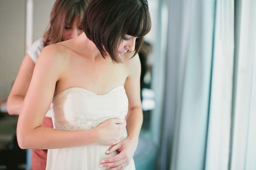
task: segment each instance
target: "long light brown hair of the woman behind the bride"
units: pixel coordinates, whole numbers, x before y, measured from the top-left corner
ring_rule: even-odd
[[[51,11],[50,23],[44,33],[44,46],[63,41],[65,25],[72,25],[76,17],[81,20],[89,0],[56,0]]]

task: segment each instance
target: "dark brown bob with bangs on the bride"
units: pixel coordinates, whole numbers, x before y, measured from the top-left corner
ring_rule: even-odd
[[[143,37],[151,29],[148,2],[147,0],[90,0],[84,12],[83,29],[103,58],[109,54],[112,61],[122,63],[118,56],[118,45],[125,34],[138,37],[135,43],[135,55],[140,50]]]

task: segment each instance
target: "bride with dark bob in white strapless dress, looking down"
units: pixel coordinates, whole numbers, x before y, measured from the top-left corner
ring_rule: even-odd
[[[147,0],[91,0],[82,23],[81,35],[42,51],[18,119],[19,146],[48,149],[47,170],[134,170]],[[55,129],[41,126],[51,102]]]

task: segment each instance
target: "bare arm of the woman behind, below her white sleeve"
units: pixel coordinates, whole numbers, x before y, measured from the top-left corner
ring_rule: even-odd
[[[20,114],[20,110],[32,78],[34,67],[35,62],[33,62],[29,54],[26,54],[23,62],[20,65],[20,70],[17,74],[17,77],[7,100],[6,108],[10,115]]]

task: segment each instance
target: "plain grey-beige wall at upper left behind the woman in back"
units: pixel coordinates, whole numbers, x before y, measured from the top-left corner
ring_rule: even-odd
[[[0,100],[7,99],[26,52],[26,1],[0,0]],[[55,0],[32,2],[34,41],[47,28]]]

